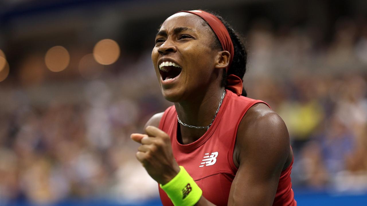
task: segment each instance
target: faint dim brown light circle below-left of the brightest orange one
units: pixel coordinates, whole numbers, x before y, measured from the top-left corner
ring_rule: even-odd
[[[80,59],[79,72],[83,78],[94,80],[98,78],[103,71],[103,65],[98,64],[93,54],[87,54]]]

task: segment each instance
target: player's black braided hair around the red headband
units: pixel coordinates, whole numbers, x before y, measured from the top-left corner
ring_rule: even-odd
[[[224,24],[224,26],[228,30],[229,36],[230,36],[230,38],[232,40],[232,43],[233,43],[233,47],[235,49],[232,64],[231,64],[229,70],[227,72],[226,72],[226,70],[223,70],[222,87],[225,87],[227,85],[227,76],[230,75],[230,74],[234,74],[237,77],[240,77],[241,79],[243,79],[243,76],[246,73],[246,62],[247,62],[246,48],[245,48],[239,34],[237,34],[237,32],[232,28],[232,26],[229,25],[228,22],[226,22],[221,16],[219,16],[217,14],[214,14],[213,12],[210,12],[210,11],[206,11],[206,12],[217,16],[218,19],[222,21],[222,23]],[[203,20],[203,22],[205,23],[205,26],[210,27],[206,21]],[[211,27],[210,27],[210,29],[211,29]],[[219,41],[218,37],[215,35],[213,30],[212,30],[212,32],[213,32],[213,36],[216,39],[216,41],[214,41],[214,45],[212,45],[212,48],[219,48],[219,49],[223,50],[222,44]],[[247,92],[244,88],[242,89],[242,94],[241,95],[242,96],[247,96]]]

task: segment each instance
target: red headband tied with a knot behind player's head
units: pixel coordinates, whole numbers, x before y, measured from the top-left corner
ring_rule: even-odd
[[[222,48],[224,51],[228,51],[230,54],[230,60],[229,65],[226,68],[226,71],[228,71],[232,60],[233,55],[235,53],[235,49],[233,48],[232,40],[229,36],[228,30],[222,23],[220,19],[218,19],[217,16],[214,16],[206,11],[202,10],[192,10],[192,11],[179,11],[179,12],[187,12],[190,14],[195,14],[200,16],[202,19],[204,19],[206,22],[208,22],[209,26],[214,31],[215,35],[217,35],[219,41],[222,44]],[[177,13],[179,13],[177,12]],[[226,85],[226,88],[230,91],[236,93],[237,95],[242,94],[242,79],[234,74],[230,74],[227,77],[228,84]]]

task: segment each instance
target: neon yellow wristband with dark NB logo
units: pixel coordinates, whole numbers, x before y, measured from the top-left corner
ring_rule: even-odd
[[[179,166],[178,174],[164,185],[159,185],[166,192],[175,206],[193,206],[199,201],[201,194],[200,187],[186,172],[183,166]]]

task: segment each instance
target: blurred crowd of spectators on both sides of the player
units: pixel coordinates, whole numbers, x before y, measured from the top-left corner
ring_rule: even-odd
[[[244,36],[244,85],[286,122],[294,187],[367,192],[367,23],[340,19],[327,41],[262,19]],[[94,80],[0,87],[0,205],[157,195],[129,138],[171,105],[150,51]]]

